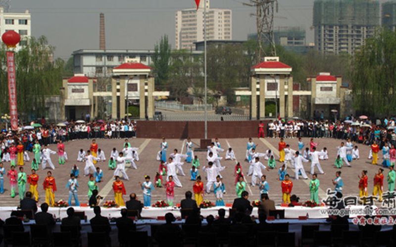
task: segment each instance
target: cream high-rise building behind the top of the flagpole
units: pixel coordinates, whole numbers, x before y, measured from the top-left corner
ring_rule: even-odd
[[[176,49],[195,49],[194,42],[203,41],[205,3],[207,40],[232,40],[231,9],[211,9],[209,8],[209,0],[201,0],[198,10],[190,8],[176,12]]]

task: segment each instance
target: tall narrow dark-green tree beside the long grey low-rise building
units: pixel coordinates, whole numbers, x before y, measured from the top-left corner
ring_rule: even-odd
[[[171,46],[168,36],[161,37],[161,41],[154,45],[154,54],[151,56],[153,73],[156,84],[165,87],[169,74],[169,59],[171,57]]]

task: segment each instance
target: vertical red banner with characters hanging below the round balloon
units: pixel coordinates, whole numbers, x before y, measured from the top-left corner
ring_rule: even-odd
[[[16,80],[15,80],[15,62],[14,52],[7,51],[7,69],[8,69],[8,96],[9,96],[9,115],[11,129],[18,130],[18,110],[16,107]]]

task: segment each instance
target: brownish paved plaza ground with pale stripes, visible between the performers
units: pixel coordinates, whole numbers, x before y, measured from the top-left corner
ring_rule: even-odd
[[[306,146],[309,147],[309,138],[303,138],[303,142],[306,144]],[[129,194],[132,192],[135,192],[138,194],[139,200],[143,202],[143,193],[142,189],[139,186],[139,182],[144,181],[144,176],[145,175],[150,175],[151,181],[154,182],[154,177],[155,177],[155,172],[158,170],[159,162],[156,161],[156,154],[160,150],[160,143],[161,140],[159,139],[142,139],[142,138],[134,138],[129,140],[132,147],[139,147],[139,157],[140,161],[136,162],[138,169],[134,168],[127,168],[126,172],[128,173],[129,176],[129,181],[124,180],[124,184],[126,187],[127,195],[124,196],[124,200],[127,201],[129,200]],[[192,140],[194,143],[195,147],[199,146],[199,139],[193,139]],[[247,138],[240,138],[240,139],[219,139],[221,147],[223,149],[228,149],[229,147],[232,147],[234,149],[235,155],[237,157],[237,160],[241,162],[243,166],[243,173],[247,175],[248,171],[248,163],[245,161],[245,154],[246,154],[246,146],[247,146]],[[337,146],[340,145],[340,143],[343,140],[338,140],[338,139],[332,139],[332,138],[318,138],[315,139],[315,142],[318,142],[319,145],[317,147],[317,150],[321,150],[323,147],[327,147],[328,152],[329,152],[329,160],[327,161],[321,161],[321,165],[323,170],[325,171],[325,174],[319,174],[318,179],[320,180],[320,193],[319,197],[324,198],[325,197],[325,191],[327,188],[334,188],[332,184],[332,179],[335,178],[335,172],[338,170],[334,166],[334,161],[336,158],[337,154]],[[169,139],[167,140],[168,142],[168,154],[173,152],[173,149],[178,149],[179,153],[183,150],[183,154],[186,152],[185,148],[185,140],[178,140],[178,139]],[[278,147],[278,142],[279,139],[275,138],[253,138],[253,142],[258,144],[257,151],[260,153],[265,152],[267,149],[272,149],[275,151],[276,154],[276,159],[279,159],[279,156],[277,156],[277,147]],[[287,144],[290,144],[292,149],[297,150],[297,139],[285,139],[285,142]],[[123,139],[97,139],[97,143],[99,145],[99,148],[102,149],[105,152],[106,156],[106,162],[99,162],[98,166],[103,170],[104,177],[103,177],[103,182],[99,183],[99,194],[104,197],[104,200],[114,200],[113,196],[113,191],[112,191],[112,182],[113,182],[113,171],[108,170],[108,159],[110,156],[110,151],[112,150],[113,147],[117,148],[118,151],[122,150],[122,146],[124,143]],[[66,189],[66,183],[67,180],[69,179],[69,173],[74,164],[76,164],[80,168],[80,177],[78,179],[80,187],[78,188],[78,194],[79,194],[79,200],[80,203],[87,203],[88,202],[88,187],[87,187],[87,182],[88,182],[88,177],[84,177],[84,166],[85,163],[77,162],[77,153],[78,150],[83,148],[84,150],[88,150],[91,144],[91,140],[74,140],[74,141],[69,141],[65,142],[65,150],[68,155],[68,161],[66,162],[65,165],[58,165],[57,160],[58,156],[56,155],[51,155],[51,159],[53,164],[55,165],[55,170],[52,171],[55,179],[56,179],[56,185],[57,185],[57,191],[55,193],[55,201],[63,199],[65,201],[68,200],[68,189]],[[365,169],[368,170],[368,177],[369,177],[369,186],[368,186],[368,191],[369,195],[373,191],[373,178],[375,173],[377,172],[378,168],[382,167],[382,165],[371,165],[371,160],[368,160],[368,153],[369,153],[369,147],[364,146],[361,144],[357,144],[360,150],[360,160],[358,161],[352,161],[351,165],[352,167],[347,167],[345,164],[343,168],[341,169],[342,171],[342,178],[344,180],[344,196],[347,195],[353,195],[357,196],[358,195],[358,178],[357,176],[360,175],[361,170]],[[49,148],[53,151],[56,151],[56,145],[50,145]],[[195,152],[195,155],[198,155],[199,161],[200,161],[200,169],[199,169],[199,174],[202,176],[202,181],[204,184],[206,184],[206,179],[205,179],[205,173],[202,171],[202,167],[206,164],[205,157],[206,157],[206,152]],[[29,156],[31,160],[33,159],[33,154],[29,153]],[[221,153],[221,156],[225,156],[225,152]],[[264,165],[267,166],[267,161],[264,159],[261,160]],[[382,155],[379,155],[379,163],[382,163]],[[227,193],[224,195],[224,201],[225,203],[231,204],[233,200],[236,198],[236,191],[235,191],[235,177],[234,177],[234,166],[236,164],[235,161],[221,161],[221,164],[224,166],[227,166],[225,170],[221,172],[223,175],[223,182],[225,183],[226,186],[226,191]],[[310,170],[310,163],[304,163],[304,168],[305,171],[308,175],[309,178],[311,178],[311,175],[309,174]],[[278,168],[281,166],[281,163],[277,161],[277,168],[270,170],[270,171],[263,171],[264,174],[267,175],[267,181],[270,186],[270,192],[269,192],[269,197],[273,200],[275,200],[275,203],[277,205],[281,204],[281,198],[282,198],[282,190],[281,190],[281,182],[277,181],[278,177]],[[9,163],[4,163],[4,167],[9,169]],[[30,167],[31,167],[31,162],[25,165],[25,172],[27,175],[30,174]],[[185,163],[183,166],[183,170],[186,173],[186,176],[180,176],[179,179],[183,184],[182,188],[175,188],[175,202],[179,203],[180,200],[184,198],[184,193],[187,190],[193,191],[193,181],[190,181],[190,172],[191,165]],[[45,202],[45,191],[43,190],[42,183],[44,181],[44,178],[46,177],[46,173],[49,170],[49,168],[42,170],[41,165],[40,165],[40,170],[38,171],[38,174],[40,175],[40,180],[39,180],[39,193],[41,195],[39,202],[43,203]],[[316,170],[317,171],[317,170]],[[388,173],[389,169],[385,169],[384,171],[384,190],[387,190],[387,182],[386,182],[386,175]],[[289,174],[291,174],[291,179],[294,183],[293,187],[293,192],[292,194],[296,194],[300,198],[300,202],[305,202],[306,200],[309,199],[309,179],[308,180],[295,180],[294,179],[294,170],[289,169]],[[245,176],[248,184],[250,184],[251,177],[250,176]],[[9,191],[9,179],[4,178],[4,187],[5,191],[3,194],[0,195],[0,206],[17,206],[19,204],[19,198],[16,196],[15,198],[10,197],[10,191]],[[26,185],[26,190],[29,189],[29,185]],[[213,190],[213,189],[212,189]],[[259,199],[259,189],[258,186],[256,187],[250,187],[247,186],[247,191],[249,192],[249,200],[258,200]],[[204,195],[204,199],[210,200],[212,202],[215,202],[215,196],[212,193],[208,195]],[[151,203],[155,203],[158,200],[165,200],[165,188],[156,188],[153,193],[152,193],[152,200]],[[72,203],[74,205],[74,201]]]

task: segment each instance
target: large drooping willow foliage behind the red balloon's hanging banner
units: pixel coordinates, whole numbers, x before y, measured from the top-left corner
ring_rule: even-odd
[[[45,96],[59,94],[64,61],[53,57],[54,47],[47,38],[30,38],[27,45],[15,53],[17,107],[22,120],[45,114]],[[0,112],[9,112],[6,47],[0,48]]]

